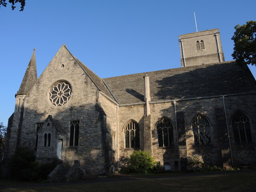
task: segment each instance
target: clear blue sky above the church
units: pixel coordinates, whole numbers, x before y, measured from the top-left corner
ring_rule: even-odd
[[[7,0],[8,1],[8,0]],[[38,76],[62,44],[101,78],[180,67],[178,36],[219,28],[226,61],[234,26],[256,20],[255,0],[26,0],[0,8],[0,122],[36,48]],[[256,76],[256,67],[250,67]]]

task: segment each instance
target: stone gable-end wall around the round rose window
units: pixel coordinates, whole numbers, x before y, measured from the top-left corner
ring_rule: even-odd
[[[56,107],[49,102],[47,93],[52,84],[59,80],[70,83],[72,95],[66,104]],[[78,159],[89,174],[97,175],[105,172],[100,109],[96,104],[97,95],[96,86],[62,47],[25,98],[24,119],[20,133],[22,146],[34,149],[35,124],[44,122],[48,115],[52,115],[52,118],[58,120],[66,132],[65,162],[73,164],[74,160]],[[80,121],[78,146],[69,144],[69,122],[72,120]]]

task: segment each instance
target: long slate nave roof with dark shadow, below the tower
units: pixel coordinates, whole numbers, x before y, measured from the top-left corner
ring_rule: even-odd
[[[152,102],[255,92],[255,79],[247,66],[235,61],[188,66],[104,78],[119,104],[144,101],[144,79],[150,79]]]

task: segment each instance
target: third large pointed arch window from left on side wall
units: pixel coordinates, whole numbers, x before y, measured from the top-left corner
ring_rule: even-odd
[[[210,122],[201,114],[192,120],[195,145],[211,144]]]

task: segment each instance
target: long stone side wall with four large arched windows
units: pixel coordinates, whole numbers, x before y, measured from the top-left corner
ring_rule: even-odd
[[[237,166],[248,162],[248,164],[255,164],[255,139],[256,130],[255,123],[256,119],[253,114],[256,113],[254,108],[253,98],[255,95],[247,94],[240,96],[226,96],[224,99],[226,114],[228,120],[228,128],[230,133],[230,142],[232,148],[233,162]],[[218,110],[217,110],[218,109]],[[143,106],[125,106],[121,107],[119,112],[119,149],[120,156],[129,156],[133,152],[133,148],[125,148],[125,135],[124,126],[128,120],[133,119],[138,122],[140,126],[140,149],[143,150],[145,135],[143,131]],[[230,152],[229,152],[229,142],[228,134],[226,131],[226,120],[223,108],[223,101],[221,97],[218,98],[207,98],[207,99],[197,99],[189,101],[178,101],[176,104],[177,110],[177,123],[178,123],[178,134],[179,134],[179,150],[180,157],[192,156],[194,154],[199,154],[202,156],[205,166],[207,165],[217,165],[222,166],[224,161],[228,166],[230,164]],[[248,114],[251,118],[252,127],[252,143],[235,144],[234,133],[231,125],[232,115],[241,110]],[[176,138],[176,120],[174,104],[171,102],[150,104],[151,112],[151,134],[152,134],[152,144],[151,152],[152,156],[160,164],[169,163],[172,169],[177,168],[178,162],[178,147]],[[218,112],[218,115],[216,115]],[[183,114],[184,132],[180,130],[179,114]],[[195,145],[194,144],[194,134],[192,130],[192,120],[198,115],[202,114],[210,122],[210,135],[211,144],[210,145]],[[222,118],[220,120],[219,116]],[[158,120],[162,117],[166,117],[171,120],[174,127],[174,146],[169,147],[159,147],[158,146],[158,134],[156,130],[156,124]],[[143,134],[143,135],[142,135]],[[226,159],[228,158],[228,159]]]

